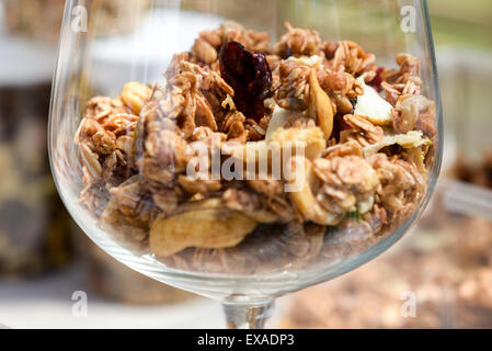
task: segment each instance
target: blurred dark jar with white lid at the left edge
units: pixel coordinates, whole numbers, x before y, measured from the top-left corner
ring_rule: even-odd
[[[69,217],[49,172],[52,50],[0,34],[0,275],[70,261]]]

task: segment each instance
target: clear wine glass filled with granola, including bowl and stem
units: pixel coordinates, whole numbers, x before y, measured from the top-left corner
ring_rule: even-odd
[[[49,147],[106,252],[261,328],[419,218],[443,148],[426,1],[133,0],[110,36],[105,2],[66,3]]]

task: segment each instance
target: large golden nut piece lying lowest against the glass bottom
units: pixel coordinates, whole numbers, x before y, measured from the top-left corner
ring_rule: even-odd
[[[210,208],[158,217],[150,228],[150,248],[169,257],[186,248],[224,249],[239,245],[258,223],[237,211]]]

